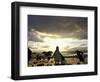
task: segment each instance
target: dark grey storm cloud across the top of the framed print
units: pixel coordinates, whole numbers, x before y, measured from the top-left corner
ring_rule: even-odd
[[[87,18],[29,15],[29,32],[32,29],[60,35],[62,38],[87,39]]]

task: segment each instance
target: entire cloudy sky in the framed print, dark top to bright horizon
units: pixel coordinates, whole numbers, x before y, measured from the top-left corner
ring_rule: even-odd
[[[87,51],[86,17],[28,15],[28,47],[33,52]]]

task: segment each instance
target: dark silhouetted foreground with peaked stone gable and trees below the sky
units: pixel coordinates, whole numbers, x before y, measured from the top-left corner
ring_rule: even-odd
[[[75,56],[63,56],[57,46],[53,55],[52,53],[52,51],[32,53],[32,51],[28,49],[28,66],[87,64],[87,55],[84,55],[82,51],[77,50]]]

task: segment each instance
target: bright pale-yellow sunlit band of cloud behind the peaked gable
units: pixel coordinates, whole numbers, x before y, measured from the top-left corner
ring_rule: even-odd
[[[87,44],[87,40],[85,39],[79,40],[73,38],[60,38],[58,35],[46,34],[35,30],[32,30],[32,34],[33,37],[35,36],[34,34],[36,34],[36,36],[33,41],[28,42],[28,46],[33,51],[54,51],[55,46],[60,46],[61,51],[68,51],[74,47],[79,47],[83,43]]]

